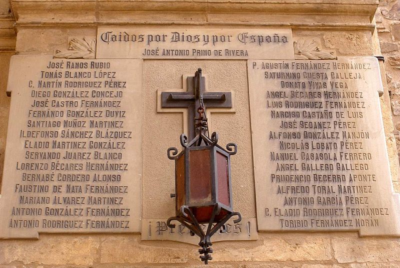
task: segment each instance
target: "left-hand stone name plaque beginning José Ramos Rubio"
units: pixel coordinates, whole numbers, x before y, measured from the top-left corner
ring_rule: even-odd
[[[142,60],[12,56],[0,237],[140,230]]]

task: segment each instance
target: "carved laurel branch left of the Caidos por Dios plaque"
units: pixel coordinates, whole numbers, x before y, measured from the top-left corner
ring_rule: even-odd
[[[57,50],[54,57],[62,58],[94,58],[96,54],[96,40],[86,37],[73,38],[69,41],[67,50]]]

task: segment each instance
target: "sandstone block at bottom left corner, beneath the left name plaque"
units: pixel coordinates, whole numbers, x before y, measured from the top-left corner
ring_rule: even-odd
[[[99,240],[95,236],[46,235],[39,240],[1,240],[0,263],[91,265]]]

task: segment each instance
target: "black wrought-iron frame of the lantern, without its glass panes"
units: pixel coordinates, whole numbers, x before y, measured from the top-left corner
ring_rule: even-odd
[[[234,223],[238,223],[241,220],[241,215],[239,212],[233,211],[232,204],[232,187],[231,187],[231,168],[230,168],[230,155],[233,155],[237,152],[237,144],[236,143],[228,143],[226,144],[226,149],[222,148],[217,144],[218,142],[218,134],[213,132],[211,136],[208,135],[208,125],[207,118],[205,116],[205,108],[202,102],[202,85],[201,85],[201,69],[199,68],[194,76],[195,82],[195,100],[198,103],[197,113],[198,117],[194,119],[194,125],[196,129],[196,136],[188,141],[188,138],[185,134],[180,135],[180,144],[183,147],[183,150],[178,153],[177,148],[170,147],[167,149],[167,156],[169,159],[175,161],[175,193],[171,194],[171,197],[177,197],[178,193],[178,170],[177,170],[177,161],[180,157],[184,157],[184,200],[183,204],[178,207],[178,200],[175,200],[175,216],[169,217],[167,219],[167,226],[170,228],[174,228],[175,224],[172,224],[171,221],[176,220],[179,221],[183,226],[187,227],[190,230],[190,235],[197,235],[200,237],[200,242],[198,243],[201,248],[198,250],[200,253],[200,259],[204,261],[205,264],[208,263],[208,260],[211,260],[212,257],[210,253],[212,253],[212,245],[210,237],[216,233],[218,230],[220,232],[226,231],[225,223],[232,216],[237,216],[236,219],[233,220]],[[190,169],[187,168],[190,166],[189,156],[191,151],[195,150],[208,150],[209,151],[209,176],[210,176],[210,191],[211,191],[211,200],[206,202],[192,202],[190,196]],[[226,157],[227,164],[227,190],[229,206],[220,202],[218,198],[218,174],[217,174],[217,153],[222,154]],[[193,213],[192,209],[197,208],[208,208],[212,207],[211,214],[209,215],[209,220],[198,220]],[[222,213],[221,213],[222,211]],[[206,231],[203,230],[201,223],[208,223]],[[202,254],[202,255],[201,255]]]

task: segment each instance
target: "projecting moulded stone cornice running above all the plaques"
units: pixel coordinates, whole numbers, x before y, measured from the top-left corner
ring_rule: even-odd
[[[226,13],[235,18],[234,22],[254,22],[262,15],[269,15],[262,22],[285,23],[287,21],[303,22],[312,19],[321,22],[327,19],[334,21],[337,17],[348,15],[353,20],[366,21],[376,9],[376,1],[352,0],[351,4],[338,4],[335,1],[221,1],[221,0],[151,0],[151,1],[40,1],[41,8],[35,10],[38,1],[15,1],[13,10],[18,14],[18,19],[25,23],[49,23],[61,21],[75,23],[92,21],[95,24],[122,24],[122,23],[168,23],[168,24],[198,24],[198,22],[210,22],[220,19],[224,24],[229,24],[232,19],[226,19]],[[346,1],[347,2],[347,1]],[[32,12],[34,10],[35,12]],[[73,13],[71,12],[73,10]],[[305,13],[303,13],[304,11]],[[180,11],[180,13],[179,13]],[[301,11],[301,13],[300,13]],[[279,12],[282,16],[276,16]],[[162,16],[160,14],[162,13]],[[309,13],[310,15],[306,15]],[[173,16],[175,14],[175,16]],[[191,15],[189,15],[191,14]],[[301,20],[292,18],[299,14]],[[315,17],[318,14],[318,18]],[[354,15],[356,14],[356,15]],[[362,14],[362,15],[360,15]],[[198,21],[199,18],[202,20]],[[164,20],[164,17],[167,17]],[[141,18],[137,20],[137,17]],[[174,19],[172,20],[171,17]],[[213,20],[210,20],[211,19]],[[355,17],[355,19],[354,19]],[[240,18],[240,19],[238,19]],[[339,20],[346,23],[346,19]],[[218,21],[219,22],[219,21]],[[94,24],[93,23],[93,24]],[[355,24],[355,23],[354,23]],[[84,25],[84,24],[83,24]],[[220,25],[220,23],[218,23]],[[247,24],[248,25],[248,24]],[[341,24],[342,25],[342,24]],[[312,26],[311,26],[312,27]]]

